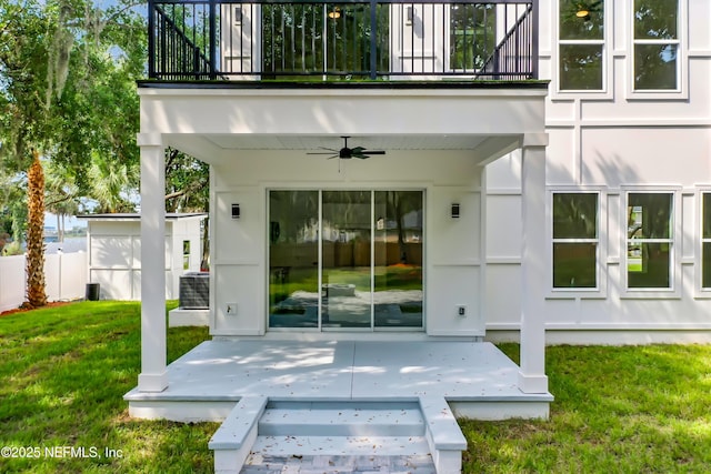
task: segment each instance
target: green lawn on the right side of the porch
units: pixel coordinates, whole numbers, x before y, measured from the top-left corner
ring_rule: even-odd
[[[518,345],[501,347],[518,361]],[[461,421],[467,473],[708,473],[711,346],[547,349],[551,417]]]

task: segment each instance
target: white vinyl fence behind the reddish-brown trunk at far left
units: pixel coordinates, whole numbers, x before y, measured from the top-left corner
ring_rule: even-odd
[[[84,297],[87,253],[44,255],[44,279],[49,301]],[[18,307],[26,300],[24,255],[0,258],[0,311]]]

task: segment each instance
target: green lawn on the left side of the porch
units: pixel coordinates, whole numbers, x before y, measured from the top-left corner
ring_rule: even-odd
[[[169,329],[169,361],[204,339],[203,327]],[[0,317],[0,442],[38,455],[0,457],[0,472],[211,472],[207,442],[217,423],[129,418],[122,395],[139,371],[138,303],[82,302]]]

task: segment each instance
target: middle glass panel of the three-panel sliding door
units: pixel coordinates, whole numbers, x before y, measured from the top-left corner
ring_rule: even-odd
[[[371,192],[322,192],[321,327],[372,327]]]

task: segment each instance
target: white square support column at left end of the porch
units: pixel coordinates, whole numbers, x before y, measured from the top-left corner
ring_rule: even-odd
[[[166,372],[166,150],[160,133],[139,133],[141,148],[140,392],[162,392]]]

